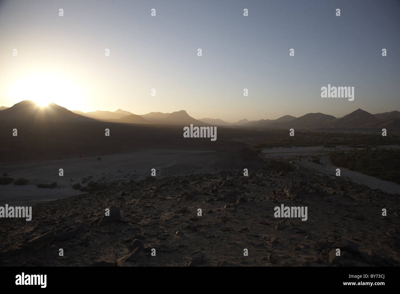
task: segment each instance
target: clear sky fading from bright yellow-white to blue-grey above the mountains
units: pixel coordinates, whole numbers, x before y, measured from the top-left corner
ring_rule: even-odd
[[[227,122],[400,110],[399,34],[398,0],[0,0],[0,105]],[[354,101],[321,98],[328,84]]]

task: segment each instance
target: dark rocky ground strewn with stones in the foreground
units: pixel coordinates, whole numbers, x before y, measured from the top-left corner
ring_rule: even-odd
[[[0,218],[0,266],[399,266],[398,197],[267,164],[148,178]],[[308,219],[275,218],[281,204]]]

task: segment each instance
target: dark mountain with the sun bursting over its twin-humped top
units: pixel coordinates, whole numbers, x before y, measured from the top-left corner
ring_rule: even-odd
[[[0,120],[28,120],[35,122],[92,121],[90,118],[73,113],[53,102],[46,107],[40,107],[31,100],[21,101],[10,108],[2,110],[0,112]]]

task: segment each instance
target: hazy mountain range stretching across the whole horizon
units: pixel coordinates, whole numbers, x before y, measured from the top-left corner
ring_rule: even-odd
[[[240,126],[256,128],[280,128],[280,129],[316,129],[316,128],[399,128],[400,112],[370,114],[362,109],[357,109],[341,118],[336,118],[329,114],[308,113],[298,118],[290,115],[282,116],[276,120],[262,119],[239,120],[235,123],[225,122],[218,118],[202,118],[196,120],[185,110],[172,113],[150,112],[148,114],[137,115],[122,109],[114,112],[93,111],[84,113],[79,110],[70,111],[62,106],[50,103],[47,107],[39,107],[30,100],[21,101],[14,106],[0,108],[0,120],[69,120],[69,121],[95,121],[118,122],[130,124],[165,124],[165,125],[185,125],[195,126]]]

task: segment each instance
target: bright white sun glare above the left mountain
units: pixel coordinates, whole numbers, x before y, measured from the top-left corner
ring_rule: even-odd
[[[15,103],[32,100],[41,107],[54,102],[66,108],[73,108],[82,100],[82,91],[69,80],[56,74],[35,74],[16,81],[9,89]]]

